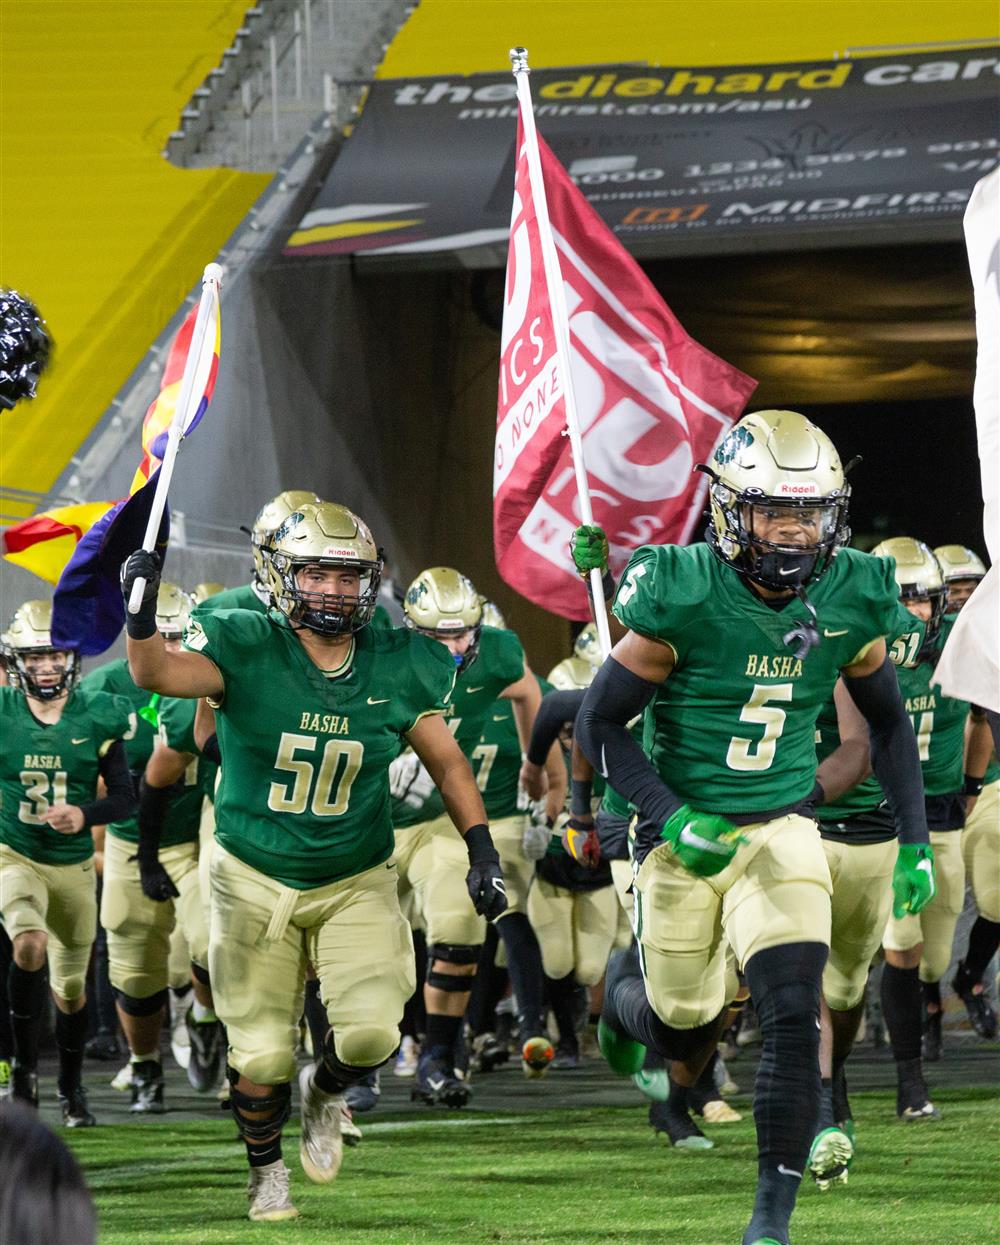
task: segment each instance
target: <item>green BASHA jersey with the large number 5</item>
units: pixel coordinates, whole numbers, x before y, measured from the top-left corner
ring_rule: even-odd
[[[666,786],[695,808],[736,817],[806,799],[816,718],[841,669],[892,630],[897,593],[890,559],[842,549],[809,588],[821,641],[800,659],[783,639],[809,621],[798,598],[772,609],[706,544],[638,549],[614,613],[675,655],[644,723]]]

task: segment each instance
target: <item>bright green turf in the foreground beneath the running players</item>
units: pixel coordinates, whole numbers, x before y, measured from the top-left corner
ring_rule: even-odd
[[[1000,1241],[996,1093],[950,1088],[935,1099],[940,1122],[907,1125],[893,1094],[852,1094],[851,1182],[826,1194],[803,1185],[795,1245]],[[93,1189],[101,1245],[738,1245],[756,1168],[746,1108],[742,1123],[706,1129],[717,1148],[696,1155],[658,1145],[641,1106],[522,1102],[507,1112],[380,1108],[361,1119],[365,1139],[328,1188],[301,1174],[291,1125],[285,1160],[301,1218],[290,1224],[244,1218],[245,1159],[225,1117],[177,1113],[64,1135]]]

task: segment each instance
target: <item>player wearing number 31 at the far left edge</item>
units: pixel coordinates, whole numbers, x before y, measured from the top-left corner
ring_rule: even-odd
[[[78,657],[52,645],[51,619],[47,601],[26,601],[0,641],[10,680],[0,687],[0,915],[14,954],[12,1093],[37,1106],[47,961],[62,1122],[83,1128],[95,1123],[80,1079],[97,933],[91,827],[134,809],[122,742],[134,717],[121,697],[76,687]],[[100,781],[107,794],[96,798]]]

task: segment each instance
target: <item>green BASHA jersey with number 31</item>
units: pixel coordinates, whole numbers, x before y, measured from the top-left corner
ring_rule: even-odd
[[[40,864],[93,855],[90,829],[60,834],[45,823],[52,804],[97,798],[100,762],[131,730],[128,701],[78,687],[59,722],[40,722],[15,687],[0,687],[0,843]]]

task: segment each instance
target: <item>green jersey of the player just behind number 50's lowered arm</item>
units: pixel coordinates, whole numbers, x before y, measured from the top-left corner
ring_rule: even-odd
[[[437,640],[432,640],[437,644]],[[448,661],[455,659],[438,645]],[[479,738],[501,692],[516,684],[524,674],[524,650],[513,631],[501,631],[498,627],[484,626],[479,632],[479,652],[471,666],[467,666],[455,684],[455,695],[446,708],[446,717],[458,747],[472,761]],[[521,745],[518,745],[518,768],[521,768]],[[482,789],[482,788],[481,788]],[[401,799],[392,802],[392,820],[397,829],[431,822],[445,812],[441,792],[435,787],[417,808]]]

